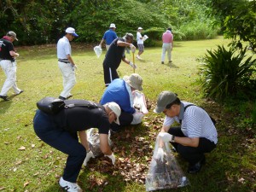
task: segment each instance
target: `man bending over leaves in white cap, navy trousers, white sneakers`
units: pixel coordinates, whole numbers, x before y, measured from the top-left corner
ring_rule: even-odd
[[[80,192],[82,189],[77,179],[81,167],[83,164],[87,166],[90,158],[94,158],[85,131],[91,127],[98,129],[102,153],[114,165],[115,156],[108,144],[108,131],[113,121],[119,124],[121,110],[115,102],[100,105],[85,100],[66,100],[65,104],[88,107],[64,108],[55,115],[38,110],[33,119],[33,127],[44,143],[68,155],[59,181],[61,188],[68,192]]]

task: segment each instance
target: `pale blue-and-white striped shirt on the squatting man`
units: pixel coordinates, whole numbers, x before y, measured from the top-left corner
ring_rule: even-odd
[[[171,126],[175,121],[179,123],[182,120],[181,130],[186,137],[205,137],[216,144],[218,133],[208,113],[197,106],[191,106],[184,112],[184,107],[189,104],[193,103],[181,102],[179,115],[173,118],[166,116],[164,125]]]

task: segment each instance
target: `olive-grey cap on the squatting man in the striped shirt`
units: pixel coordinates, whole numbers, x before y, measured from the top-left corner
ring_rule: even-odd
[[[169,90],[162,91],[157,99],[156,108],[154,113],[161,113],[165,110],[166,106],[177,99],[177,94],[172,93]]]

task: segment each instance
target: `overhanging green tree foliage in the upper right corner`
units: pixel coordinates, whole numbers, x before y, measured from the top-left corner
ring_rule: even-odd
[[[217,23],[223,27],[224,36],[235,42],[248,42],[256,51],[256,1],[212,0],[209,3],[212,15],[217,15]]]

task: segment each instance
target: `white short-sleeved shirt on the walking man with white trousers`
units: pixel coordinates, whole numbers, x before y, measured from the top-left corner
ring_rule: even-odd
[[[58,59],[67,60],[67,55],[71,55],[71,45],[69,40],[64,36],[60,38],[57,44],[57,57]]]

